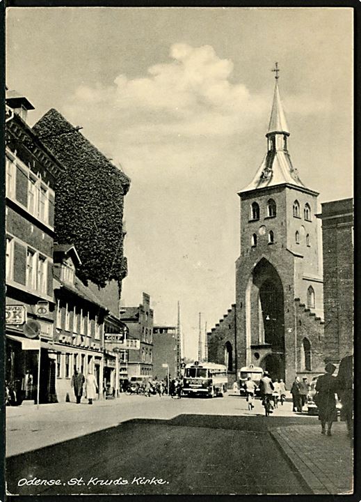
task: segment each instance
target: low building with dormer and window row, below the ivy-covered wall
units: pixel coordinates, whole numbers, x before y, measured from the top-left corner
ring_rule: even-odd
[[[95,374],[98,397],[104,390],[104,319],[109,313],[99,299],[77,277],[81,264],[72,245],[54,245],[53,351],[56,353],[58,402],[74,401],[71,386],[75,370]]]

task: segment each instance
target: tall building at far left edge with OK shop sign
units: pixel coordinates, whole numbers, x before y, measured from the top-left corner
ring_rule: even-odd
[[[55,402],[54,199],[63,166],[26,123],[31,109],[7,93],[6,381],[26,400],[37,400],[40,381],[40,402]]]

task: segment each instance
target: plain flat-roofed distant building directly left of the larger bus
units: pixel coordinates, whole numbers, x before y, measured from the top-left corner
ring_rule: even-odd
[[[177,377],[177,327],[154,326],[153,328],[153,375],[158,379]]]

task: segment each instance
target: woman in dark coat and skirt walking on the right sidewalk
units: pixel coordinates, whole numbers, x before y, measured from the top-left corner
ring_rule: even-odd
[[[317,379],[316,395],[314,402],[319,409],[319,420],[321,420],[321,434],[331,436],[332,422],[337,420],[336,399],[337,379],[332,377],[335,373],[336,366],[332,363],[327,363],[325,367],[326,373]]]

